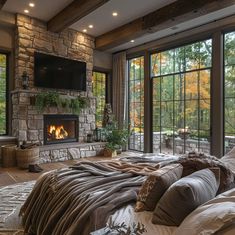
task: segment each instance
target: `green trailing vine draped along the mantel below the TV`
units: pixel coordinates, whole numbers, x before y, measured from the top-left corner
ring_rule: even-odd
[[[63,108],[67,112],[79,114],[81,109],[88,107],[89,100],[86,97],[78,96],[76,98],[67,98],[59,95],[57,92],[38,93],[35,96],[35,106],[43,112],[49,107]]]

